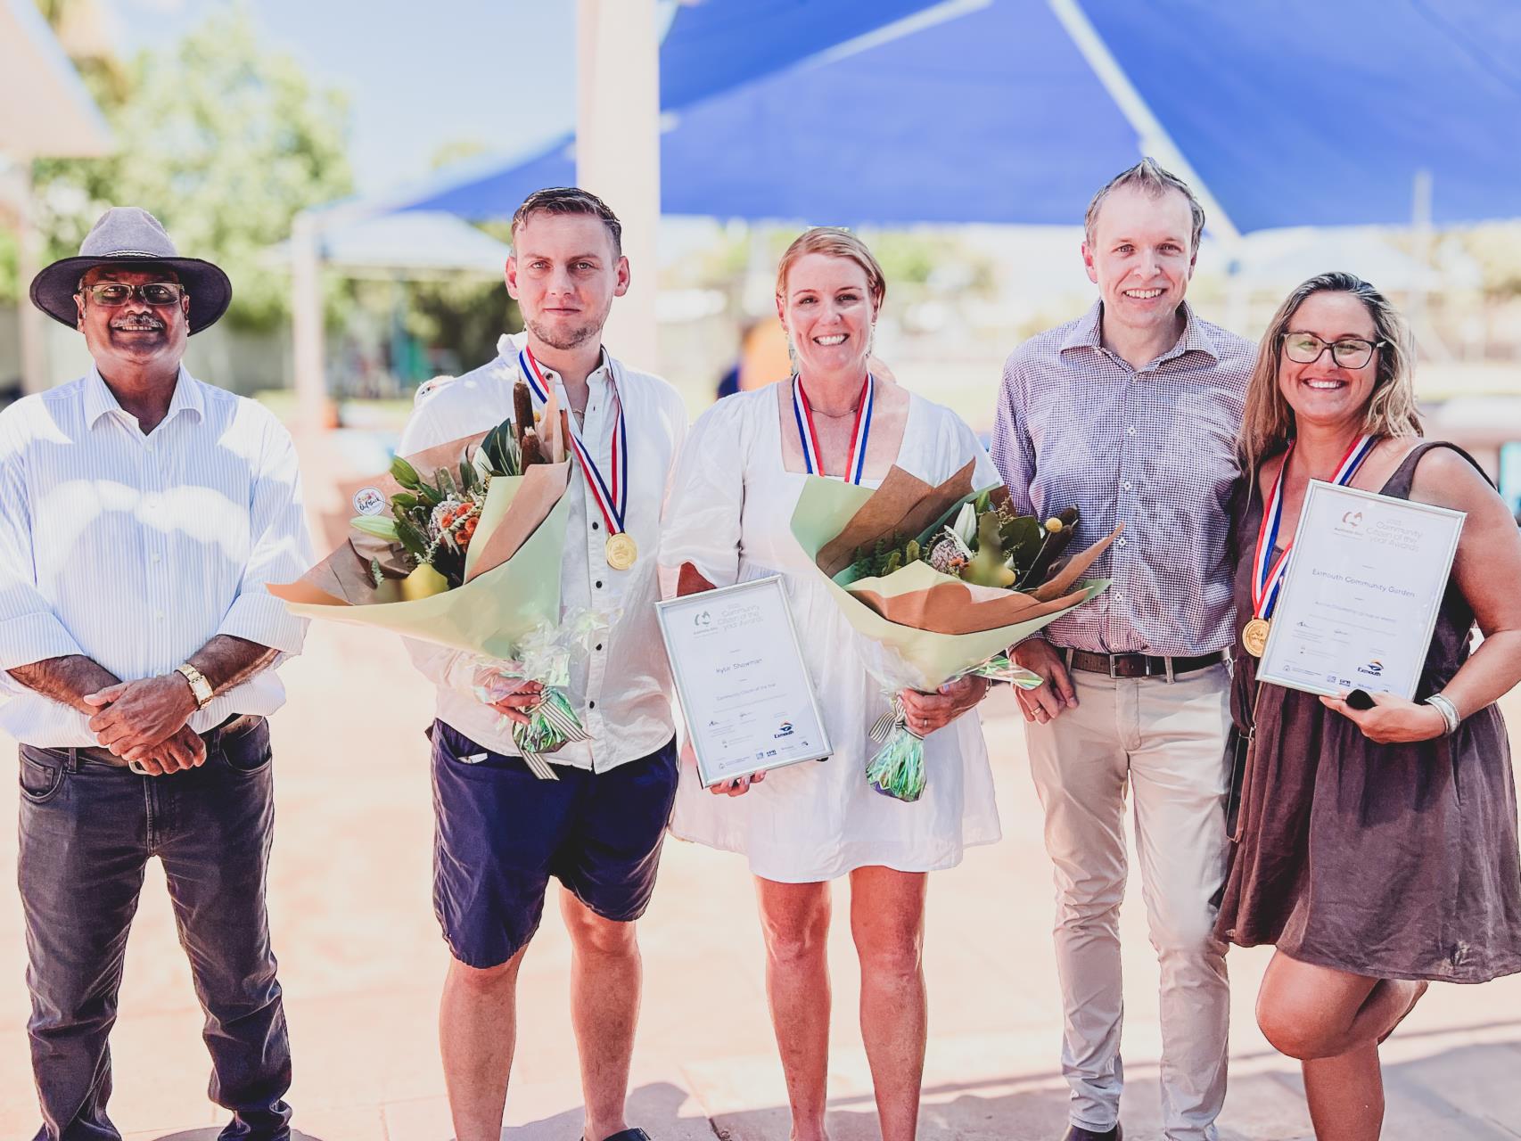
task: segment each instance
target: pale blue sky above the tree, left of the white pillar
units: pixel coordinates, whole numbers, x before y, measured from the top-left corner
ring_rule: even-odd
[[[228,0],[106,0],[123,53]],[[348,93],[360,192],[426,173],[444,143],[497,152],[575,126],[575,0],[245,0],[268,46]]]

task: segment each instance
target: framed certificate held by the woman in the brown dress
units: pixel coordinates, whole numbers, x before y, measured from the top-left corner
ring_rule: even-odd
[[[1465,517],[1310,481],[1258,680],[1413,700]]]

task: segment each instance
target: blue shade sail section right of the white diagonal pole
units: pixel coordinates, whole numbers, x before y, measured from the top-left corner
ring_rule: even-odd
[[[1521,216],[1521,5],[1083,0],[1241,230]]]

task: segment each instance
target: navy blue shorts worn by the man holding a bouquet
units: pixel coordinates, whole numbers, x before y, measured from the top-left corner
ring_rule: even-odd
[[[555,765],[558,780],[443,721],[432,738],[433,911],[455,958],[488,968],[522,951],[549,876],[604,919],[645,913],[675,802],[674,738],[607,773]]]

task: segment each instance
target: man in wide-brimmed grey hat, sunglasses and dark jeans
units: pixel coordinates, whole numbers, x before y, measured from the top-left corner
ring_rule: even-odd
[[[20,742],[38,1141],[110,1141],[126,934],[163,861],[205,1010],[222,1138],[291,1135],[265,878],[275,671],[304,627],[265,583],[312,561],[289,434],[192,377],[231,300],[144,210],[108,210],[32,281],[84,333],[73,383],[0,412],[0,729]]]

